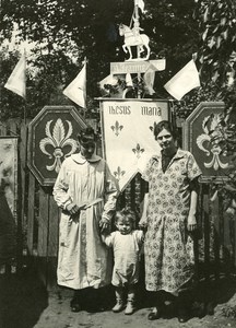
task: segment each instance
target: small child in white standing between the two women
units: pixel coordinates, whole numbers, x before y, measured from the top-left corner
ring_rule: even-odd
[[[127,290],[128,298],[125,314],[131,315],[134,311],[135,284],[139,281],[139,253],[144,239],[143,232],[134,230],[135,215],[133,212],[122,209],[115,215],[115,224],[118,231],[102,238],[114,250],[113,285],[116,286],[116,305],[113,312],[118,313],[125,307],[123,294]]]

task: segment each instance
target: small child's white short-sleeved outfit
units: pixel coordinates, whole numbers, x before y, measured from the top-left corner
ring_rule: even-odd
[[[114,249],[114,270],[111,283],[115,286],[134,284],[139,280],[139,251],[143,241],[143,232],[134,230],[122,235],[113,232],[103,238],[108,247]]]

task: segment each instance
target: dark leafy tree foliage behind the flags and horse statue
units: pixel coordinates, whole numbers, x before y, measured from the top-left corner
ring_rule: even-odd
[[[194,54],[201,87],[174,106],[185,119],[200,102],[224,101],[235,119],[236,9],[231,0],[145,0],[140,25],[150,37],[150,59],[166,58],[155,74],[155,94],[172,98],[163,85]],[[87,118],[99,119],[98,82],[109,74],[110,62],[125,61],[120,23],[130,25],[133,0],[2,0],[0,16],[0,118],[28,118],[45,105],[72,104],[62,90],[87,58]],[[17,33],[15,35],[15,26]],[[27,98],[3,87],[27,42]],[[13,46],[12,46],[13,44]],[[224,121],[224,124],[226,124]],[[227,142],[226,142],[227,144]],[[232,147],[232,144],[231,144]],[[234,149],[233,149],[234,151]]]

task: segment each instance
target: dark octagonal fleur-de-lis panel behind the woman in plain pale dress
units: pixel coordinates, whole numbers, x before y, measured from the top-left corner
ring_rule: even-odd
[[[45,106],[28,125],[27,164],[43,186],[52,186],[63,160],[78,151],[87,125],[73,106]]]

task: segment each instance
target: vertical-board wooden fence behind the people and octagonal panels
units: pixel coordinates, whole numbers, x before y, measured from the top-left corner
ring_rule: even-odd
[[[0,122],[0,137],[19,136],[17,186],[17,254],[21,269],[27,254],[39,268],[39,274],[50,289],[56,284],[59,209],[52,198],[52,187],[43,187],[26,165],[27,122]],[[223,211],[222,199],[210,200],[211,184],[202,184],[198,204],[199,232],[196,236],[196,262],[199,279],[217,279],[231,274],[236,263],[236,224]],[[137,212],[144,195],[138,174],[119,196],[118,207],[129,206]],[[2,269],[1,269],[2,270]],[[9,269],[7,268],[9,271]],[[11,269],[10,269],[11,271]]]

